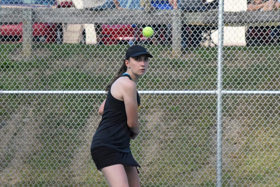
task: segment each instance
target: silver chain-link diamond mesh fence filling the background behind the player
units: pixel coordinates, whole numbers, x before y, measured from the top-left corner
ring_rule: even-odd
[[[133,44],[154,55],[131,141],[141,186],[279,186],[279,1],[221,1],[223,46],[217,0],[0,3],[1,186],[107,185],[90,144]]]

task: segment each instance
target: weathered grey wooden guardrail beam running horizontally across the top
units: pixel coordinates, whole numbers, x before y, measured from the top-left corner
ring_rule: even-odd
[[[134,24],[169,24],[172,17],[177,15],[174,10],[105,10],[88,11],[79,9],[59,9],[59,8],[0,8],[1,22],[22,22],[29,11],[32,14],[33,22],[51,22],[51,23],[134,23]],[[280,11],[272,12],[224,12],[224,23],[252,24],[275,23],[280,22]],[[142,19],[142,18],[145,19]],[[180,19],[180,17],[177,17]],[[181,20],[187,24],[217,24],[218,11],[211,12],[182,12]]]

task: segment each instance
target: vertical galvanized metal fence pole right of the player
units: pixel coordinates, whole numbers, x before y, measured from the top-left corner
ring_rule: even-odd
[[[223,62],[224,0],[219,0],[218,12],[218,75],[217,75],[217,187],[222,187],[222,62]]]

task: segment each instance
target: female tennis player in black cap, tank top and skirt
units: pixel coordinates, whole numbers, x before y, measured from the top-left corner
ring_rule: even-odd
[[[129,142],[140,133],[136,83],[146,73],[152,57],[144,47],[130,46],[98,110],[102,119],[91,142],[91,156],[110,187],[140,186],[140,165],[131,154]]]

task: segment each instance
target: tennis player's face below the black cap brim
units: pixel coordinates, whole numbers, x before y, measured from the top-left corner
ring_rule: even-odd
[[[130,57],[129,67],[132,73],[137,75],[143,75],[147,72],[149,65],[149,57],[147,55],[140,55],[136,57]]]

